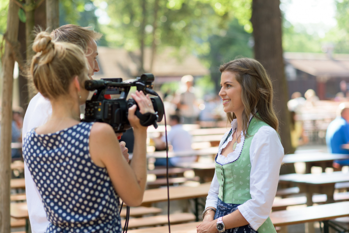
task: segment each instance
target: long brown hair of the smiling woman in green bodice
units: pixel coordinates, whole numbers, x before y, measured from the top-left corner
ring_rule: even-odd
[[[269,75],[260,62],[252,58],[238,58],[219,67],[221,73],[229,71],[235,74],[241,85],[242,131],[247,132],[250,114],[278,131],[279,121],[273,106],[273,86]],[[255,112],[257,109],[259,115]],[[236,118],[234,113],[227,113],[228,121]]]

